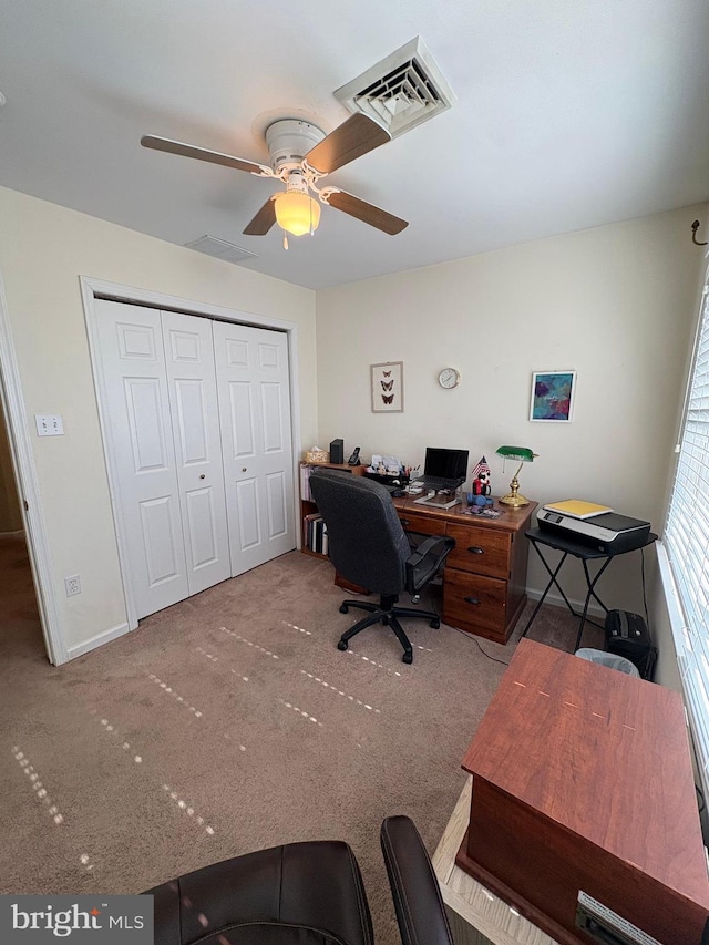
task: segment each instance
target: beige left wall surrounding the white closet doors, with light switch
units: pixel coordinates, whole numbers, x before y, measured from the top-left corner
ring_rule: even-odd
[[[304,443],[317,439],[315,294],[3,188],[0,219],[0,274],[71,648],[125,620],[79,276],[296,322]],[[38,412],[62,414],[65,435],[39,439]],[[82,594],[68,599],[71,574]]]

